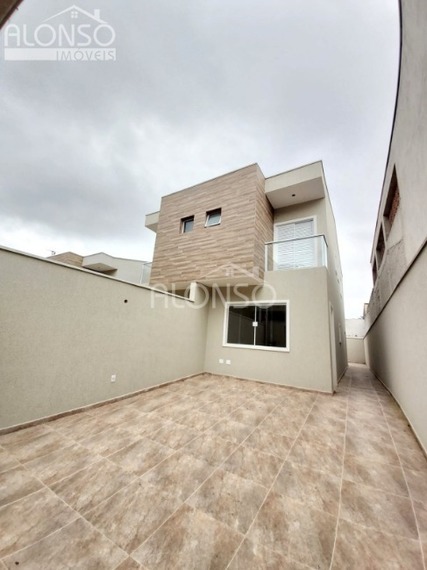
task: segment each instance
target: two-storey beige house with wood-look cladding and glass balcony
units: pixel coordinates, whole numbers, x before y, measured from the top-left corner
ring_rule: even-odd
[[[207,372],[335,389],[342,272],[321,162],[270,178],[253,164],[164,196],[146,226],[150,285],[204,293]]]

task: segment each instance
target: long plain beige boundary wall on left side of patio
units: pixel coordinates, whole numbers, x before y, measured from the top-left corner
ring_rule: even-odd
[[[203,371],[190,301],[1,248],[0,268],[0,428]]]

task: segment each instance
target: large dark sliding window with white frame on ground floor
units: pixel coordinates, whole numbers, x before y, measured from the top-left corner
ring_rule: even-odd
[[[226,307],[224,344],[288,350],[287,303],[236,303]]]

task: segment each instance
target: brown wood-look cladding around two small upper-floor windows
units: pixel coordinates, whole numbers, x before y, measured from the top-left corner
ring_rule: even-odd
[[[206,213],[217,208],[221,223],[205,227]],[[190,216],[193,229],[182,233],[181,220]],[[262,276],[264,243],[272,236],[272,207],[257,164],[164,196],[150,284],[224,278],[230,264]]]

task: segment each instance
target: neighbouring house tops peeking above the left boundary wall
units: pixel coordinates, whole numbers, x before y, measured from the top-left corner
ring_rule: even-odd
[[[129,281],[129,283],[145,285],[150,280],[151,263],[139,259],[113,257],[102,252],[82,256],[71,251],[51,255],[47,259],[74,267],[81,267],[82,269],[89,269],[96,273],[121,279],[122,281]]]

